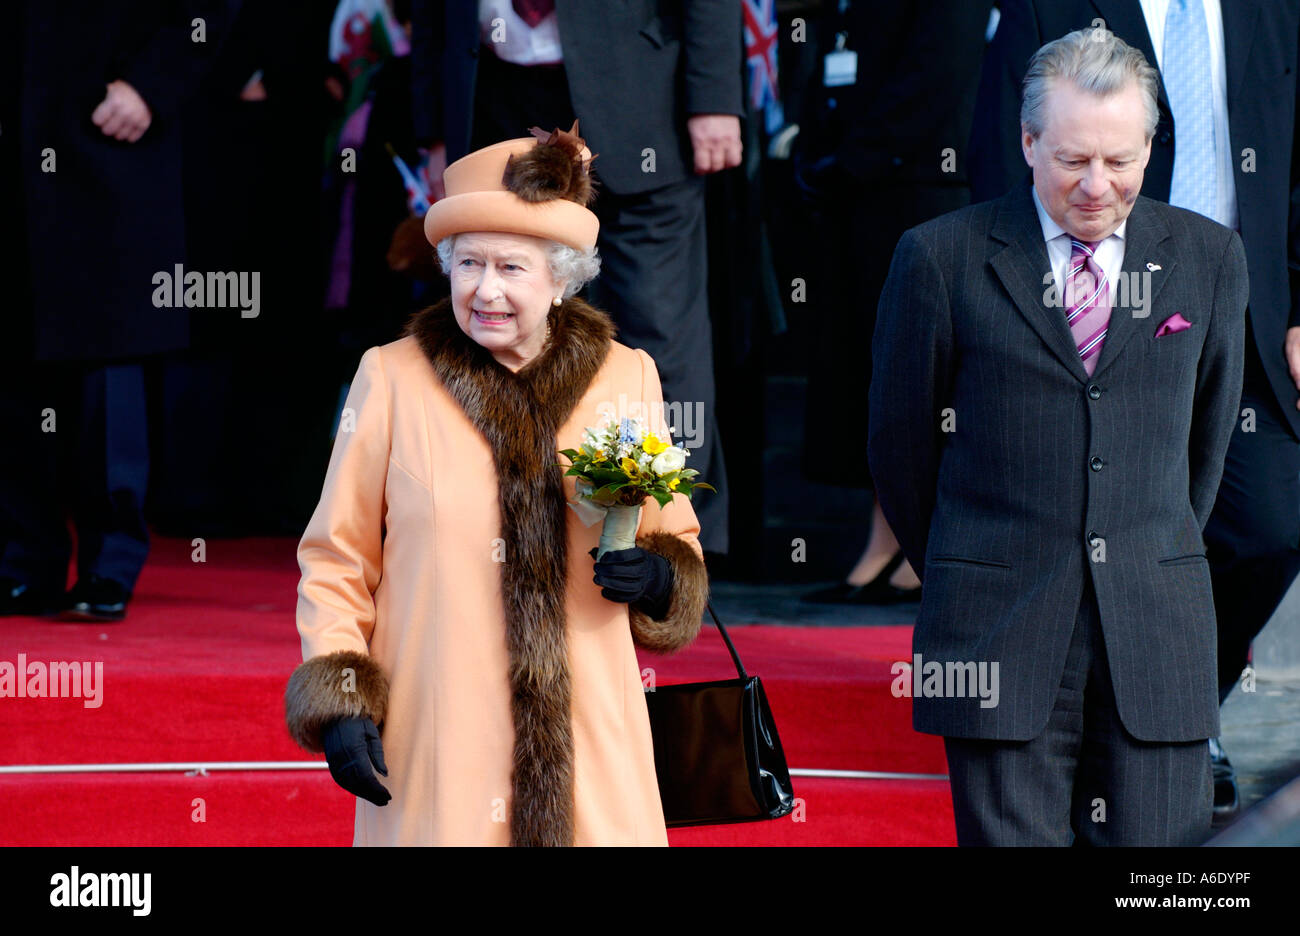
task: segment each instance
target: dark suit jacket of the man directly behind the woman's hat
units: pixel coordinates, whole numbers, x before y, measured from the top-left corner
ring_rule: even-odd
[[[416,0],[411,9],[415,133],[469,152],[481,52],[477,4]],[[741,10],[734,0],[556,0],[564,70],[593,170],[630,195],[688,178],[685,133],[697,113],[741,114]],[[551,127],[546,127],[550,130]],[[567,127],[566,127],[567,129]],[[520,127],[516,136],[526,136]],[[655,172],[641,170],[655,151]]]

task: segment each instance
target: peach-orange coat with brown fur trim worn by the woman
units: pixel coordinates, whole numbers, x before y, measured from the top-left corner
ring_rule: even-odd
[[[356,845],[667,844],[633,644],[698,632],[699,526],[680,494],[642,507],[637,542],[673,569],[664,620],[601,595],[601,524],[559,500],[575,478],[556,452],[620,403],[662,426],[659,376],[581,300],[552,321],[515,374],[445,300],[358,368],[298,549],[304,663],[286,692],[308,750],[334,718],[381,725],[393,798],[358,800]]]

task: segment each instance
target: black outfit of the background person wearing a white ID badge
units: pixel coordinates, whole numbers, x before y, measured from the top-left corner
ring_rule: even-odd
[[[842,22],[827,22],[822,55],[842,27],[858,74],[853,86],[823,88],[818,68],[815,109],[797,142],[801,165],[812,170],[801,173],[815,186],[810,225],[819,231],[802,264],[811,272],[802,273],[809,300],[794,307],[806,311],[815,361],[805,438],[833,438],[846,412],[866,415],[876,302],[898,238],[970,202],[962,143],[991,8],[980,0],[855,0]],[[945,172],[945,150],[954,172]],[[828,459],[814,446],[805,447],[803,473],[871,486],[864,458]]]

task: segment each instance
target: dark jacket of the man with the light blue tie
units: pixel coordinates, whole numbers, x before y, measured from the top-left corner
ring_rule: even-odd
[[[971,198],[1002,195],[1028,177],[1020,151],[1020,83],[1041,46],[1104,20],[1106,29],[1140,49],[1152,68],[1156,51],[1138,0],[1001,0],[1002,20],[980,77],[970,142]],[[1300,161],[1295,159],[1295,103],[1300,72],[1300,0],[1223,0],[1223,60],[1232,181],[1242,240],[1251,266],[1249,321],[1260,360],[1291,432],[1300,438],[1300,411],[1282,346],[1300,325]],[[1160,125],[1141,194],[1169,202],[1178,134],[1164,81]],[[1244,172],[1243,150],[1254,151]]]

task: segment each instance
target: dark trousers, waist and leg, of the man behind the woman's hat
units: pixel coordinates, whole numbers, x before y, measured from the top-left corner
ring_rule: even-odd
[[[534,125],[567,130],[573,124],[563,68],[521,68],[484,48],[476,81],[473,150],[526,136]],[[599,160],[595,170],[599,176]],[[715,420],[705,181],[692,177],[633,195],[598,190],[594,209],[601,274],[589,290],[592,304],[610,313],[618,341],[654,359],[673,441],[688,446],[686,467],[718,489],[692,502],[699,545],[725,552],[727,467]]]

